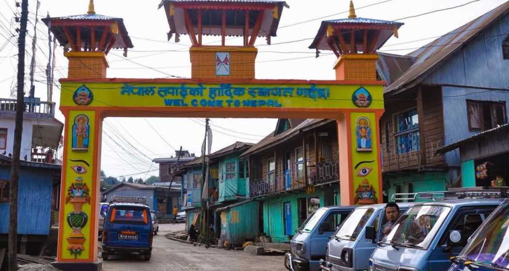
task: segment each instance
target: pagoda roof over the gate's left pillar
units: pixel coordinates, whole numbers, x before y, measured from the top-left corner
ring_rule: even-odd
[[[80,15],[71,15],[64,17],[46,17],[43,18],[42,21],[50,28],[51,32],[55,35],[56,39],[60,42],[60,45],[66,46],[67,44],[72,44],[71,41],[68,40],[68,36],[65,33],[65,27],[81,27],[81,35],[87,37],[90,35],[92,27],[95,30],[95,37],[97,41],[102,37],[104,32],[104,27],[108,26],[110,28],[116,28],[115,31],[111,31],[108,28],[106,41],[109,41],[112,37],[115,39],[115,42],[112,44],[111,48],[115,49],[127,49],[133,48],[133,44],[129,34],[127,33],[127,29],[124,25],[124,20],[122,18],[109,17],[105,15],[99,14],[80,14]],[[71,34],[75,35],[75,32]],[[82,39],[82,42],[85,40]],[[84,47],[82,45],[82,47]]]

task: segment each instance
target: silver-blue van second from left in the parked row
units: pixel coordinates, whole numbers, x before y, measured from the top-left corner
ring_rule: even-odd
[[[400,214],[415,203],[398,203]],[[386,204],[359,206],[353,210],[327,246],[322,270],[367,270],[367,259],[383,237]]]

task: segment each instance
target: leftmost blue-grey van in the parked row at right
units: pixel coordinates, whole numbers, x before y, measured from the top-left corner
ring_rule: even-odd
[[[318,208],[302,223],[293,236],[285,267],[291,271],[320,270],[329,237],[348,217],[355,206]]]

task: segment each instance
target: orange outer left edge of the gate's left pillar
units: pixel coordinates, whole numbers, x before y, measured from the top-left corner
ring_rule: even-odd
[[[62,259],[62,242],[64,241],[64,207],[65,207],[65,175],[66,175],[66,168],[67,168],[67,141],[69,138],[72,138],[68,135],[69,129],[67,129],[68,121],[69,121],[69,112],[68,111],[62,111],[62,114],[64,114],[64,118],[66,120],[66,124],[64,125],[64,154],[62,157],[62,176],[60,179],[60,206],[59,206],[59,237],[58,237],[58,245],[57,245],[57,251],[56,251],[56,261],[61,262]]]

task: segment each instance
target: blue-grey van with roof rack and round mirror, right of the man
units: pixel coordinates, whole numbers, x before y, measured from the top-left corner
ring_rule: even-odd
[[[503,201],[500,198],[479,198],[493,197],[492,193],[468,192],[470,198],[410,207],[373,252],[370,270],[447,270],[451,264],[450,257],[460,253],[465,240]],[[457,194],[459,198],[467,195],[464,192]]]

